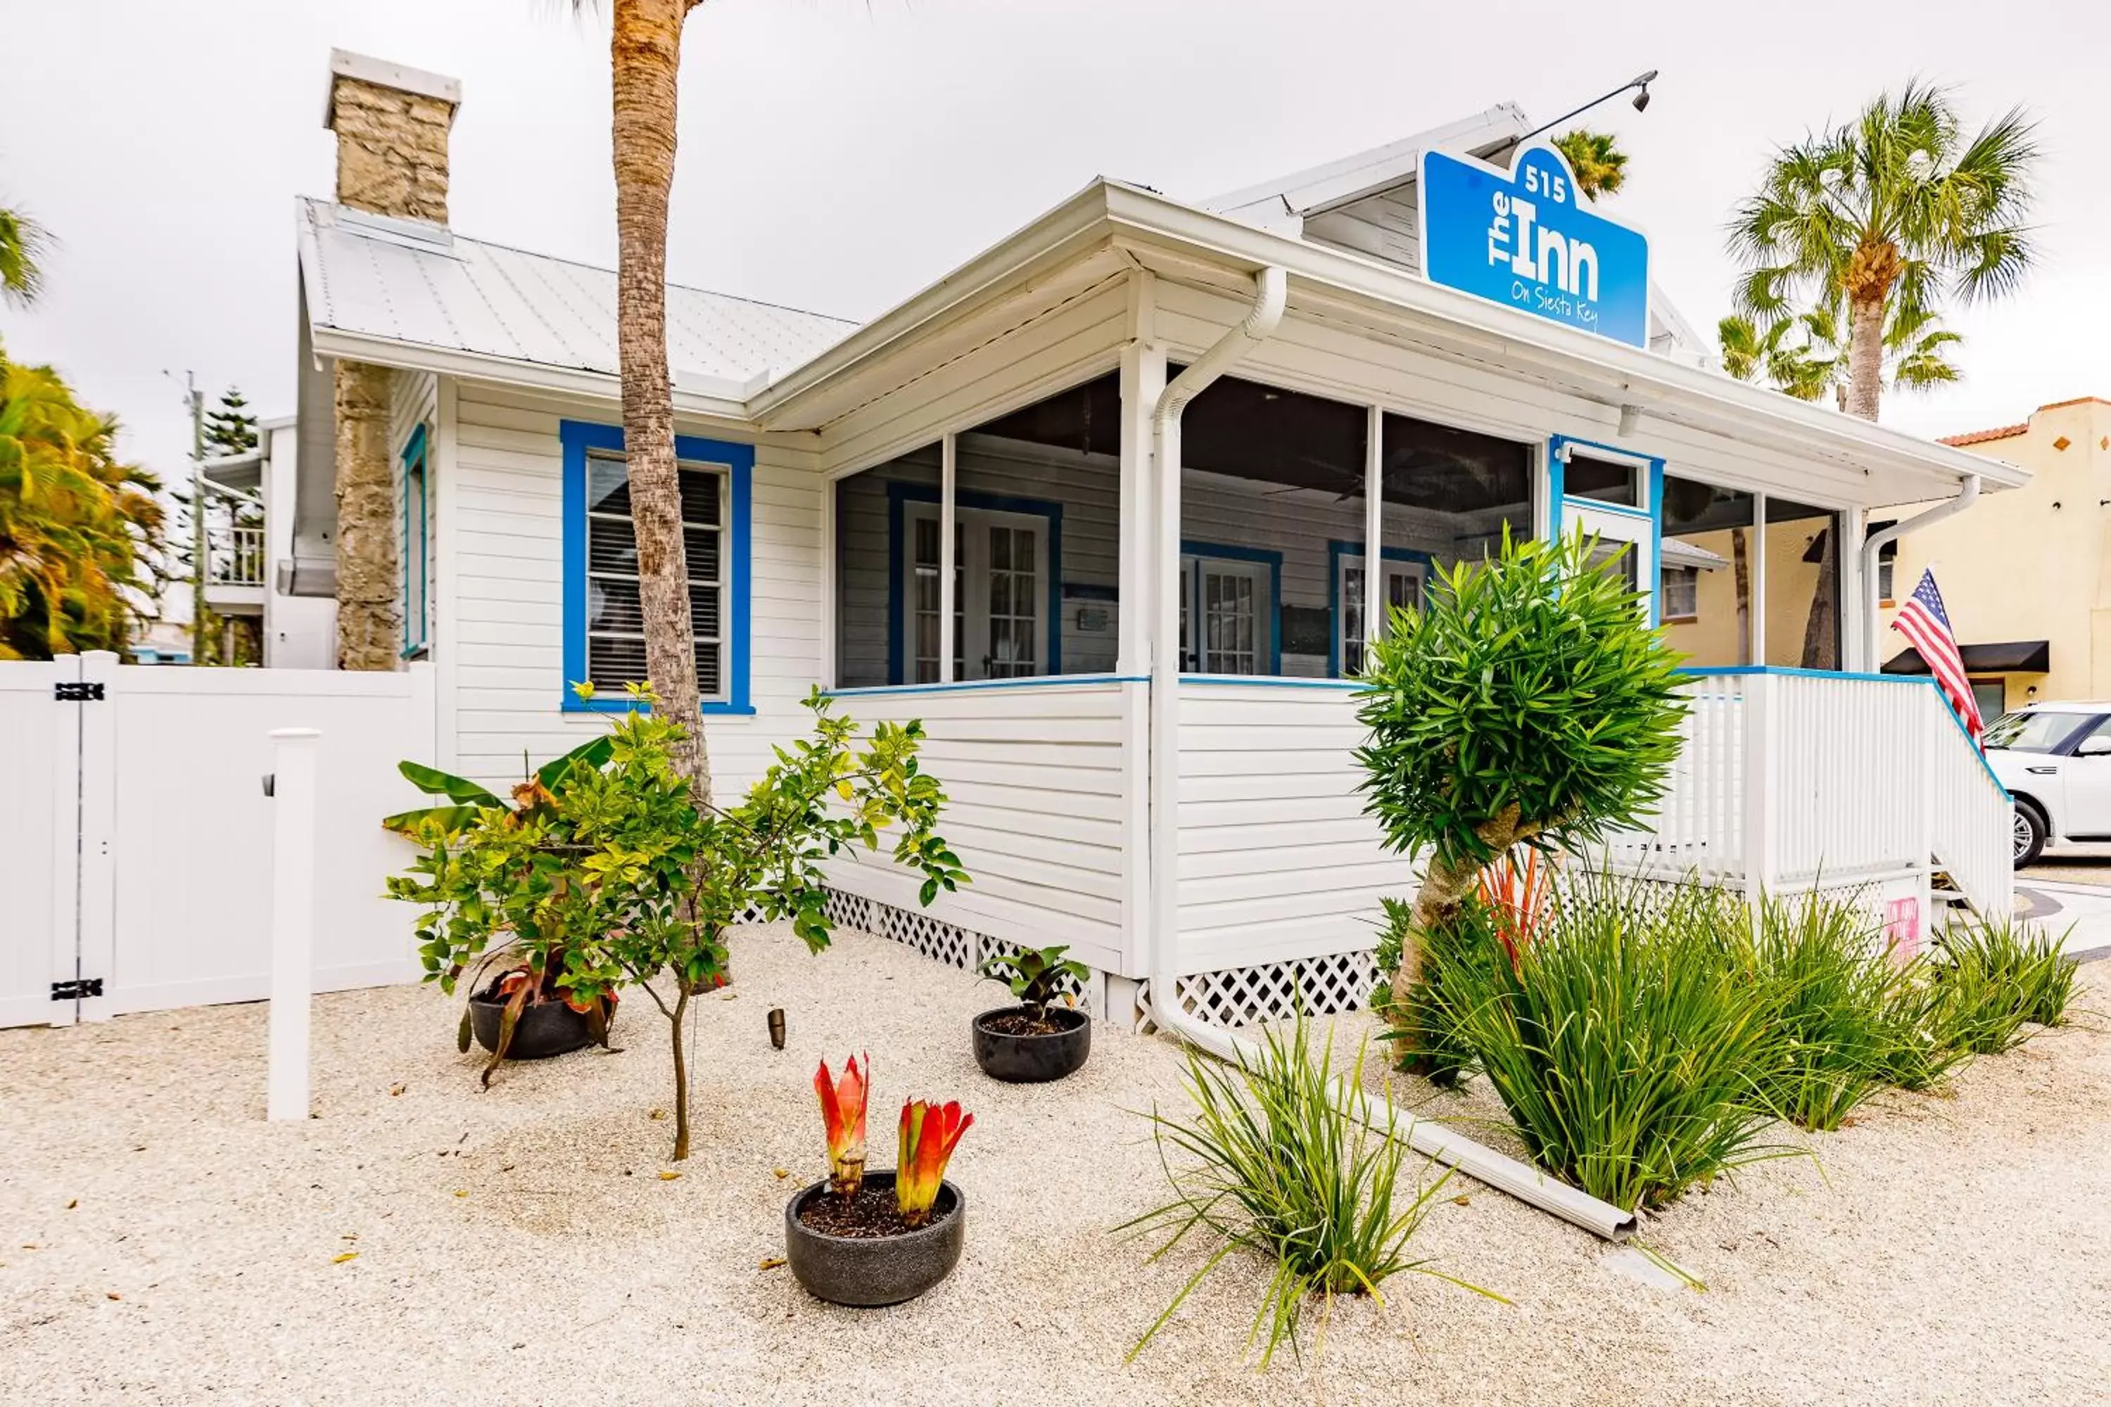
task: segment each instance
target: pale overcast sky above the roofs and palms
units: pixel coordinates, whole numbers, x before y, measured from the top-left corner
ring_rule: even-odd
[[[63,243],[8,354],[55,363],[182,466],[163,369],[293,394],[293,196],[331,190],[331,46],[462,80],[452,221],[614,264],[608,44],[564,0],[6,0],[0,200]],[[1697,19],[1720,11],[1725,19]],[[1961,312],[1965,382],[1885,420],[1946,435],[2111,397],[2111,11],[1784,2],[709,0],[682,65],[678,283],[868,319],[1098,173],[1207,198],[1518,101],[1535,120],[1661,70],[1647,114],[1594,122],[1632,154],[1611,211],[1653,240],[1701,327],[1725,312],[1720,226],[1767,152],[1908,76],[1976,124],[2041,120],[2041,266]]]

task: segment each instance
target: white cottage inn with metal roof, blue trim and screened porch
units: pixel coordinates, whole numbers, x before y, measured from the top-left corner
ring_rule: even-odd
[[[458,95],[338,55],[334,112],[348,86]],[[1866,884],[1900,924],[1934,869],[2008,903],[2008,797],[1934,690],[1860,673],[1843,603],[1870,506],[2022,473],[1729,380],[1581,207],[1549,268],[1537,181],[1564,169],[1518,156],[1526,131],[1499,105],[1201,205],[1096,179],[866,325],[669,289],[722,785],[802,732],[819,681],[859,721],[925,719],[954,797],[973,886],[918,909],[842,865],[844,918],[956,964],[1070,943],[1123,1019],[1153,977],[1229,1021],[1294,985],[1357,1002],[1378,897],[1412,886],[1349,762],[1366,635],[1505,529],[1577,525],[1666,618],[1739,580],[1623,863]],[[1518,181],[1511,211],[1533,184],[1535,295],[1566,312],[1425,276],[1423,240],[1433,262],[1454,234],[1427,171]],[[403,656],[433,667],[439,766],[507,780],[604,726],[574,679],[642,673],[614,274],[350,203],[302,200],[298,238],[287,580],[329,580],[331,361],[388,367]]]

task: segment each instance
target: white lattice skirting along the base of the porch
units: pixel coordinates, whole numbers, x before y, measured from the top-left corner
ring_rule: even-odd
[[[933,962],[950,968],[975,970],[984,958],[1020,951],[1018,943],[992,939],[973,928],[961,928],[944,920],[897,909],[895,905],[847,894],[828,892],[828,918],[844,928],[861,928],[880,939],[891,939]],[[1357,953],[1332,953],[1328,958],[1294,958],[1269,962],[1252,968],[1222,968],[1218,972],[1195,972],[1182,977],[1180,1006],[1212,1025],[1252,1025],[1254,1021],[1281,1021],[1298,1015],[1332,1017],[1345,1010],[1362,1010],[1370,1002],[1370,989],[1378,981],[1378,968],[1370,949]],[[1100,981],[1072,983],[1079,998],[1096,1017],[1150,1029],[1146,1017],[1148,983],[1136,987],[1138,1006],[1134,1013],[1102,1010],[1104,987]]]

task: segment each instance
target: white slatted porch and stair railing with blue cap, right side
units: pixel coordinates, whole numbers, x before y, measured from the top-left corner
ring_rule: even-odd
[[[1687,743],[1621,869],[1767,892],[1946,869],[1982,913],[2014,903],[2010,797],[1921,679],[1695,671]]]

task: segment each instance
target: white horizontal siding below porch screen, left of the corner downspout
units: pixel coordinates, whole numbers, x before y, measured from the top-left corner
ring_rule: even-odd
[[[1079,962],[1123,970],[1125,888],[1140,863],[1127,797],[1142,785],[1123,738],[1142,686],[849,692],[836,707],[861,728],[923,719],[925,770],[948,797],[939,833],[973,875],[937,897],[933,918],[1034,947],[1068,943]],[[832,863],[832,884],[916,909],[916,880],[874,859]]]

